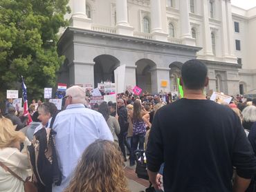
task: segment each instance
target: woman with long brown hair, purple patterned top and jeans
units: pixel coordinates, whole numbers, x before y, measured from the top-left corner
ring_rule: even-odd
[[[132,124],[133,124],[133,135],[131,138],[131,155],[130,155],[130,166],[135,164],[135,151],[137,147],[140,150],[144,150],[146,124],[143,120],[143,115],[145,115],[143,106],[139,99],[134,102],[134,111],[132,114]]]

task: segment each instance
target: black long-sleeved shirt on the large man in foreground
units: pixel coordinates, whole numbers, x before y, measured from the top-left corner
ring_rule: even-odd
[[[169,191],[232,191],[232,169],[250,178],[256,159],[239,117],[210,100],[180,99],[154,116],[147,143],[147,169],[165,162]]]

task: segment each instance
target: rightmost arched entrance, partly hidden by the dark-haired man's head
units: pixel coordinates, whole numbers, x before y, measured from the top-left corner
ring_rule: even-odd
[[[174,93],[179,93],[179,84],[177,79],[181,77],[181,62],[175,61],[170,64],[170,90]]]

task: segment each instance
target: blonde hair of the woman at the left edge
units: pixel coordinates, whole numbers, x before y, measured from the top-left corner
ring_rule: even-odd
[[[15,131],[10,119],[0,118],[0,148],[10,147],[14,142],[24,142],[25,139],[24,133]]]

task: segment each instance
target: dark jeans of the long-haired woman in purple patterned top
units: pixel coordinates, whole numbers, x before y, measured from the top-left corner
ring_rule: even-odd
[[[130,164],[135,164],[135,151],[137,148],[144,150],[145,134],[132,135]],[[139,145],[138,145],[139,144]]]

